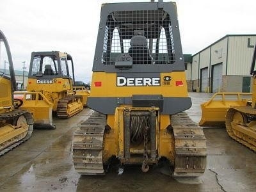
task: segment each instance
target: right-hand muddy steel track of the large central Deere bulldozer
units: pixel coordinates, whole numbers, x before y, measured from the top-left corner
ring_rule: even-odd
[[[202,175],[206,167],[206,139],[202,127],[184,112],[172,115],[171,122],[175,140],[173,176]]]

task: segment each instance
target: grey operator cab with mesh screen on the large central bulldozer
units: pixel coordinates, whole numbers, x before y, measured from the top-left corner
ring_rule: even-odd
[[[129,4],[127,3],[127,6]],[[184,71],[175,10],[133,7],[104,13],[93,61],[93,71]],[[103,40],[103,41],[102,41]]]

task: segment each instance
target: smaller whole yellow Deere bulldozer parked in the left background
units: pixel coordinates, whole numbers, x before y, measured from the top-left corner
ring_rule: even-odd
[[[55,129],[52,113],[58,118],[69,118],[83,110],[83,97],[74,94],[73,82],[74,64],[70,54],[32,52],[27,91],[15,93],[23,95],[20,109],[31,111],[36,127]]]

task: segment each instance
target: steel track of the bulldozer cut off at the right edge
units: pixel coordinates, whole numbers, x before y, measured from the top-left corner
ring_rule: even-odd
[[[234,131],[233,128],[232,128],[233,116],[236,112],[239,112],[244,116],[247,116],[247,115],[256,116],[255,112],[253,113],[254,110],[252,110],[252,107],[244,107],[243,109],[245,109],[245,110],[247,109],[246,111],[244,111],[244,110],[241,111],[241,109],[242,109],[241,107],[240,108],[239,107],[234,107],[234,108],[228,109],[227,116],[226,116],[226,129],[227,129],[228,135],[233,140],[237,141],[238,143],[241,143],[245,147],[250,148],[250,150],[253,150],[253,152],[256,152],[256,146],[253,145],[252,143],[249,143],[246,140],[243,140],[242,138],[239,138],[237,136],[237,133],[243,135],[243,138],[244,138],[244,135],[245,135],[247,137],[247,139],[248,138],[253,139],[252,136],[246,134],[246,131],[244,131],[244,132],[239,132],[237,130]],[[244,112],[247,112],[247,113],[244,113]],[[242,125],[242,126],[243,126],[243,129],[249,129],[248,127],[246,127],[244,125]],[[235,132],[236,132],[236,134],[235,134]],[[253,132],[255,132],[255,131],[253,131]]]

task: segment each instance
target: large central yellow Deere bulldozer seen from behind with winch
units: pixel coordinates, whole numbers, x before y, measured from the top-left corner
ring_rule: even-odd
[[[175,3],[102,4],[87,105],[72,143],[81,175],[106,173],[111,157],[143,172],[167,159],[175,176],[204,173],[204,132],[182,112],[191,99]]]

